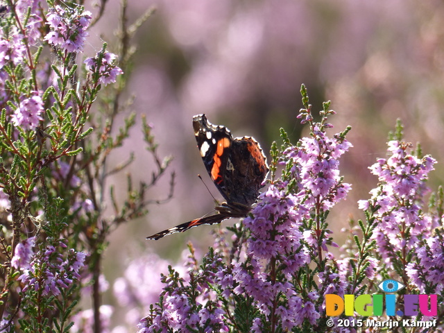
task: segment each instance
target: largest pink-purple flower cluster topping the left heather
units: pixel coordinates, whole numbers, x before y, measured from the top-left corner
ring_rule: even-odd
[[[44,37],[49,44],[60,45],[67,52],[80,52],[88,36],[86,29],[92,13],[82,6],[63,9],[61,6],[50,8],[46,17],[50,32]]]

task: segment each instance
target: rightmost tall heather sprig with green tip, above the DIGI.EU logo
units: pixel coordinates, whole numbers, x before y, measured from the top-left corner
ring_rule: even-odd
[[[413,151],[412,144],[403,141],[402,130],[398,121],[395,133],[389,137],[387,157],[377,159],[369,167],[379,183],[370,191],[369,200],[359,201],[366,223],[359,221],[364,239],[356,241],[361,258],[358,262],[364,264],[362,268],[366,271],[370,268],[367,275],[370,281],[372,277],[374,281],[398,280],[406,286],[405,293],[438,294],[441,304],[443,190],[440,187],[430,196],[427,211],[425,198],[430,191],[427,180],[436,160],[422,155],[420,146]],[[352,266],[354,272],[356,267]],[[442,313],[440,309],[438,329],[443,324],[439,319]]]

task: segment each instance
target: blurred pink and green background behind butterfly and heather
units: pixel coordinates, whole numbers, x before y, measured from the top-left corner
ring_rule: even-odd
[[[404,124],[406,141],[420,142],[424,153],[438,160],[432,189],[443,183],[443,1],[139,0],[129,1],[130,21],[151,6],[157,8],[155,15],[133,40],[138,53],[126,94],[135,96],[132,110],[146,114],[153,124],[161,155],[173,155],[176,187],[167,203],[151,206],[146,218],[114,232],[104,262],[110,285],[133,259],[147,253],[176,262],[188,241],[203,253],[212,244],[214,226],[145,240],[213,210],[199,173],[221,198],[196,149],[194,114],[207,114],[234,136],[255,137],[269,155],[271,142],[280,142],[279,128],[287,130],[293,143],[307,135],[296,119],[302,83],[314,112],[331,100],[337,112],[330,119],[331,134],[352,126],[348,139],[354,146],[341,160],[352,191],[330,215],[339,244],[350,216],[364,217],[357,200],[368,198],[376,185],[368,167],[384,157],[396,119]],[[103,35],[112,49],[118,15],[119,1],[110,0],[104,19],[92,31],[90,47],[97,48],[100,42],[94,37],[99,41]],[[135,180],[148,180],[153,162],[139,128],[114,153],[114,162],[130,151],[137,160],[127,171]],[[113,181],[123,196],[126,176]],[[150,195],[167,196],[168,181],[165,177]],[[104,302],[116,307],[113,325],[123,323],[128,309],[116,304],[112,288]]]

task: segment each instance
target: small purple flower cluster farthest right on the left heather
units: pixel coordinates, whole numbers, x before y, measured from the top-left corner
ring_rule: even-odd
[[[123,71],[116,65],[117,56],[114,53],[105,51],[103,56],[101,56],[101,52],[99,52],[95,58],[87,58],[85,60],[86,69],[93,74],[96,73],[99,59],[101,59],[99,83],[108,85],[109,83],[116,82],[117,76],[123,74]]]

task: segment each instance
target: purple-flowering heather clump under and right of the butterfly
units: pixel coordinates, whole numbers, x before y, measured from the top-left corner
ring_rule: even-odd
[[[442,303],[442,189],[429,212],[424,207],[436,161],[402,141],[398,122],[388,156],[369,168],[379,182],[359,202],[366,219],[342,230],[348,240],[337,255],[332,248],[339,234],[330,230],[328,216],[351,189],[339,173],[339,158],[352,146],[345,138],[350,127],[327,135],[335,114],[330,102],[313,114],[304,85],[301,94],[298,118],[309,137],[291,144],[281,130],[282,145],[271,147],[268,187],[250,215],[216,230],[200,264],[189,244],[187,272],[169,266],[159,300],[148,305],[138,298],[148,311],[139,332],[382,332],[386,328],[340,325],[346,317],[326,316],[325,295],[381,293],[377,284],[388,278],[407,286],[404,293],[436,293]],[[127,279],[126,293],[135,296]],[[348,319],[365,318],[355,313]],[[439,309],[429,332],[439,332],[442,318]]]

